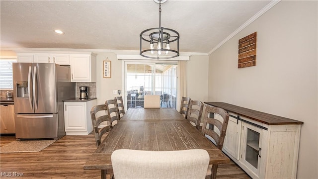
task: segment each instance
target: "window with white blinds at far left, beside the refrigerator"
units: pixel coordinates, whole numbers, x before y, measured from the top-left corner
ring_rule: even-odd
[[[16,59],[0,59],[0,89],[13,89],[12,63]]]

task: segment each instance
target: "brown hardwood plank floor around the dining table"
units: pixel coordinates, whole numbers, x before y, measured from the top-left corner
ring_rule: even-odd
[[[14,140],[14,136],[1,136],[0,147]],[[0,154],[0,178],[16,172],[23,173],[17,179],[100,179],[100,171],[83,170],[83,164],[95,149],[94,135],[89,134],[64,136],[41,152]],[[250,177],[231,161],[219,165],[217,179]]]

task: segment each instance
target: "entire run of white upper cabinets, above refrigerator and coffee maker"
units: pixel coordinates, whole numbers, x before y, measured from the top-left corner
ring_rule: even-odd
[[[71,82],[96,82],[96,55],[72,51],[16,51],[17,62],[70,65]]]

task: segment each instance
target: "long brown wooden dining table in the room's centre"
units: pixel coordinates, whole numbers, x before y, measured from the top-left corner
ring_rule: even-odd
[[[117,149],[204,149],[209,153],[209,164],[230,162],[216,145],[174,108],[129,108],[88,158],[84,170],[111,170],[111,154]],[[104,178],[106,175],[101,177]]]

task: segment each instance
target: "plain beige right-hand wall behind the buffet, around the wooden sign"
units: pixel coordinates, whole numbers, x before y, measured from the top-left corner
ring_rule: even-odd
[[[318,1],[280,1],[209,56],[209,101],[304,122],[298,179],[318,178]],[[238,69],[238,41],[257,32],[256,66]]]

